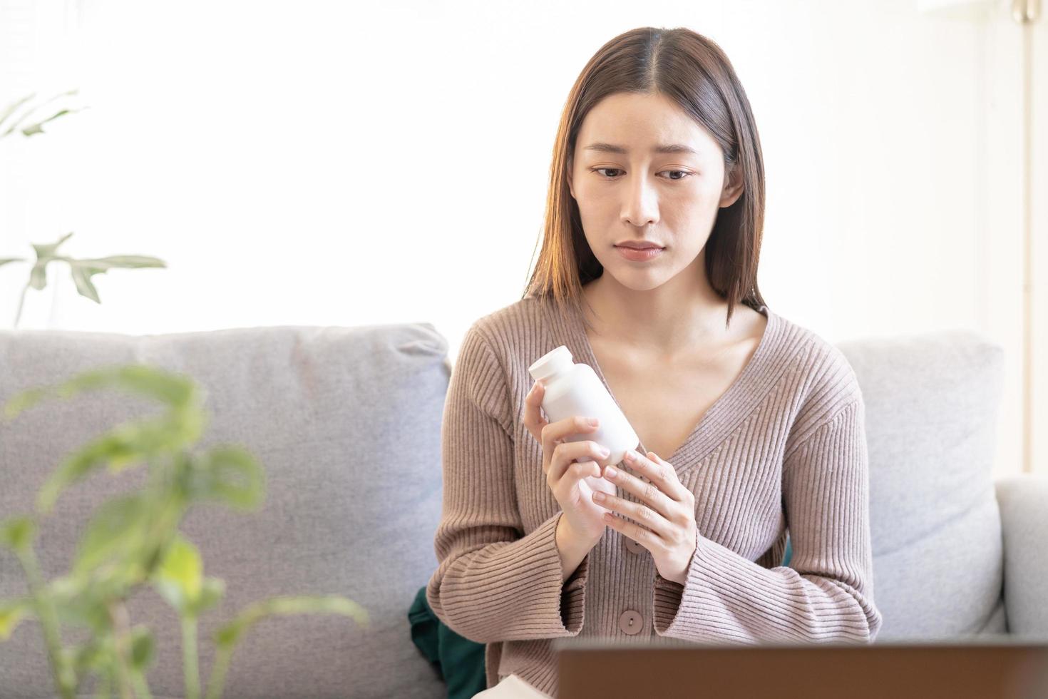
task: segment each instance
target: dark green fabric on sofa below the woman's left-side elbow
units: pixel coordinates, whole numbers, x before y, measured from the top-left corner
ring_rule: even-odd
[[[447,684],[447,699],[470,699],[487,689],[484,643],[463,638],[437,618],[419,589],[408,611],[411,639]]]

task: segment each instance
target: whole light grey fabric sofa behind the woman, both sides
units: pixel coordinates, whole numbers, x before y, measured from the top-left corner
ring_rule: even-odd
[[[990,476],[1003,352],[967,331],[838,345],[867,403],[877,642],[974,634],[1048,637],[1048,478]],[[237,442],[267,473],[254,514],[193,509],[181,530],[226,596],[200,622],[200,676],[211,634],[248,603],[342,594],[343,616],[269,618],[233,656],[226,697],[442,697],[409,633],[408,609],[437,562],[440,419],[451,363],[432,324],[281,326],[162,335],[0,331],[0,401],[103,365],[146,363],[193,375],[208,391],[201,447]],[[48,400],[0,424],[0,519],[28,512],[68,451],[157,407],[113,392]],[[37,551],[45,577],[66,572],[84,523],[144,469],[102,472],[65,493]],[[0,598],[24,594],[0,550]],[[157,698],[182,696],[177,617],[155,592],[129,602],[149,625]],[[83,640],[66,631],[66,642]],[[54,696],[40,627],[0,643],[0,696]],[[93,683],[83,687],[90,696]]]

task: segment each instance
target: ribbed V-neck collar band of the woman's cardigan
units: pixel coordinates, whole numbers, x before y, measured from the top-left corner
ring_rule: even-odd
[[[569,349],[572,355],[576,362],[585,362],[593,369],[605,388],[608,389],[615,405],[621,409],[621,405],[608,385],[608,379],[605,378],[596,355],[593,353],[593,348],[590,346],[582,309],[572,304],[569,304],[569,307],[572,309],[572,319],[570,323],[567,323],[567,333],[571,340]],[[672,456],[667,457],[659,454],[678,472],[704,459],[714,449],[719,446],[739,423],[757,408],[773,385],[773,380],[769,378],[768,372],[765,370],[773,364],[774,346],[778,344],[780,335],[781,319],[767,305],[761,305],[757,310],[767,316],[768,323],[764,328],[761,342],[743,368],[742,373],[709,406],[702,419],[692,429],[691,434]],[[647,454],[648,449],[642,441],[637,446],[637,451],[640,454]]]

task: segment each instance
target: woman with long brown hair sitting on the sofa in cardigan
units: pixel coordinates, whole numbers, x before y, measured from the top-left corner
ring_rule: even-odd
[[[685,28],[615,37],[571,90],[551,173],[528,289],[470,327],[443,414],[427,599],[486,645],[481,694],[555,697],[565,636],[872,642],[863,394],[757,289],[764,170],[727,58]],[[577,438],[589,416],[544,419],[527,369],[560,345],[621,407],[636,460],[605,467]]]

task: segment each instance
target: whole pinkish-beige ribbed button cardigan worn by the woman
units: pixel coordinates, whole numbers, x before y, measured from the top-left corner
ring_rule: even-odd
[[[562,584],[561,508],[522,422],[527,368],[566,345],[607,380],[581,311],[553,308],[528,297],[474,323],[445,397],[427,598],[449,628],[486,643],[487,686],[517,673],[555,697],[551,639],[562,636],[872,642],[881,615],[858,381],[836,347],[767,306],[742,374],[675,454],[659,455],[695,494],[686,583],[663,578],[647,549],[608,527]]]

